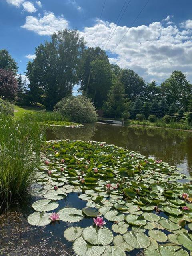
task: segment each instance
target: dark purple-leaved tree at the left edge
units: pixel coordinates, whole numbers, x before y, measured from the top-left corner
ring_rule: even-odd
[[[14,100],[18,84],[14,73],[10,70],[0,69],[0,96],[4,100]]]

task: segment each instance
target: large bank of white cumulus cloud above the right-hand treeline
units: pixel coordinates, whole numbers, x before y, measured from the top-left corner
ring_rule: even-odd
[[[101,20],[95,45],[109,52],[111,63],[138,72],[148,82],[157,80],[160,83],[173,70],[181,70],[192,80],[192,31],[163,24],[152,22],[148,26],[131,28],[118,26],[105,49],[104,45],[114,24]],[[186,28],[189,28],[189,24],[188,22]],[[92,46],[94,42],[97,26],[98,21],[94,26],[85,27],[80,32],[88,46]],[[120,42],[125,33],[126,36]]]

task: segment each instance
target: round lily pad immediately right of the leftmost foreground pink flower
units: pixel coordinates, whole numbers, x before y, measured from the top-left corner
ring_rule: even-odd
[[[78,222],[83,219],[82,210],[76,208],[63,208],[59,212],[60,220],[66,222]]]

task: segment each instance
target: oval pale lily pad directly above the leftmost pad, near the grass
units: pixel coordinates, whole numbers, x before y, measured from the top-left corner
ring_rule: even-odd
[[[41,199],[32,204],[32,207],[34,208],[35,211],[39,212],[48,212],[56,209],[59,204],[56,202],[52,202],[52,200],[49,199]]]

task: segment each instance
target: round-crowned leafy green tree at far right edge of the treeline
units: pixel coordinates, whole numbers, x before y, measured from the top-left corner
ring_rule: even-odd
[[[187,110],[192,95],[192,85],[181,71],[173,71],[170,78],[161,84],[161,88],[168,105],[174,104]]]

